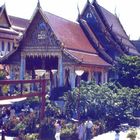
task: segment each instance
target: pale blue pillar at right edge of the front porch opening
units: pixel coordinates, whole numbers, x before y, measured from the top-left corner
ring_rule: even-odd
[[[63,60],[62,56],[58,58],[58,79],[59,79],[59,86],[62,87],[64,85],[64,73],[63,73]]]

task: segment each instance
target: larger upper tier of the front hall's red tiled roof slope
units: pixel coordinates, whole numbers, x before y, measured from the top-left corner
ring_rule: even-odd
[[[97,53],[78,23],[63,19],[48,12],[44,13],[58,39],[64,43],[64,47]]]

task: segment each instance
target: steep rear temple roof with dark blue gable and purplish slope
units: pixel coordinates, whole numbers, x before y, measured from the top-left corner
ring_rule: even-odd
[[[93,47],[107,62],[114,63],[113,60],[123,54],[139,55],[118,17],[96,0],[87,2],[78,21]]]

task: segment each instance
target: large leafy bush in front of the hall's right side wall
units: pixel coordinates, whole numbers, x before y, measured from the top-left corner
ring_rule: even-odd
[[[135,110],[140,110],[140,88],[131,89],[114,83],[97,85],[94,81],[82,81],[79,88],[76,87],[64,95],[64,100],[68,117],[74,117],[79,109],[81,119],[91,116],[94,120],[104,120],[106,126],[113,129],[131,119]]]

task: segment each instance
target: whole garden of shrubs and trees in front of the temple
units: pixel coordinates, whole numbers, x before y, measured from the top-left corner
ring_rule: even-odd
[[[133,127],[140,126],[140,61],[135,61],[133,57],[131,59],[124,58],[115,66],[119,71],[118,81],[99,85],[95,81],[81,81],[79,87],[67,91],[59,98],[64,103],[63,107],[47,96],[43,120],[39,118],[38,97],[13,105],[15,116],[10,119],[10,116],[6,116],[7,107],[4,107],[5,110],[0,107],[1,129],[4,129],[6,135],[20,140],[53,140],[54,122],[59,119],[62,123],[61,139],[71,140],[77,138],[76,119],[85,121],[90,117],[94,127],[98,126],[94,128],[94,135],[115,130],[126,123]],[[137,62],[136,66],[127,61]],[[130,133],[129,137],[133,134],[135,132]]]

